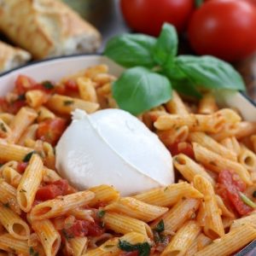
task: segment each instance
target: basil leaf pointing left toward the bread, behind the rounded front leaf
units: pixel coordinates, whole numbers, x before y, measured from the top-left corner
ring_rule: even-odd
[[[156,39],[143,34],[123,34],[108,41],[104,55],[124,67],[154,67],[151,55]]]

